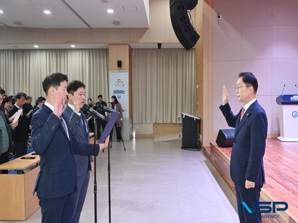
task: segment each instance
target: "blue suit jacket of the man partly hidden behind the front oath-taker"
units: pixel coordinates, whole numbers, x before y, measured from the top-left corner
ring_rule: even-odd
[[[71,127],[71,129],[74,130],[72,132],[72,134],[74,135],[76,141],[89,144],[89,128],[88,128],[88,124],[85,119],[85,116],[83,115],[82,111],[80,111],[81,118],[84,119],[85,125],[87,127],[87,131],[86,131],[86,128],[84,128],[81,121],[79,121],[78,124],[76,122],[70,122],[73,112],[74,112],[74,110],[72,110],[69,106],[67,106],[62,112],[63,117],[65,117],[66,123],[69,123],[68,125],[78,125],[78,126],[73,126],[73,127],[69,126],[69,127]],[[75,164],[76,164],[76,175],[77,176],[86,174],[88,169],[91,170],[90,156],[86,157],[86,156],[74,155],[74,160],[75,160]]]

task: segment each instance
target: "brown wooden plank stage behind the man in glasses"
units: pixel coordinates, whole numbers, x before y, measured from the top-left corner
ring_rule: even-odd
[[[210,142],[210,147],[204,147],[204,153],[235,193],[229,171],[231,148]],[[261,191],[261,201],[285,201],[289,208],[277,212],[278,219],[263,219],[263,222],[298,223],[298,142],[268,138],[264,168],[266,184]]]

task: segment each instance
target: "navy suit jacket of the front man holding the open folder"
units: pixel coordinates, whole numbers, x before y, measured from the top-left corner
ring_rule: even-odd
[[[66,120],[66,117],[63,118]],[[37,176],[33,194],[41,198],[56,198],[74,193],[76,185],[76,166],[74,154],[91,156],[93,145],[80,143],[73,137],[71,129],[78,126],[80,116],[75,112],[69,125],[69,137],[57,117],[46,105],[32,117],[32,147],[40,156],[40,172]],[[73,123],[76,123],[74,125]],[[96,145],[96,155],[99,145]]]

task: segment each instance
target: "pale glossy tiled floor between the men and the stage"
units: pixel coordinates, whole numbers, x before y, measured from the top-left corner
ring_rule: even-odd
[[[202,152],[180,149],[179,139],[125,144],[126,152],[121,142],[111,149],[112,223],[238,222],[235,195]],[[106,150],[97,158],[98,223],[109,222],[107,163]],[[93,198],[92,175],[81,223],[94,222]],[[26,223],[40,219],[38,210]]]

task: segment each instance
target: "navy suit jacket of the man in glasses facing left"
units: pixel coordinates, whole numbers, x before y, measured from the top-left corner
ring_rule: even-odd
[[[265,110],[255,101],[245,111],[233,115],[229,104],[220,107],[228,126],[235,128],[232,146],[230,175],[234,183],[245,186],[245,180],[265,183],[263,156],[267,138],[267,116]]]

